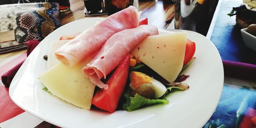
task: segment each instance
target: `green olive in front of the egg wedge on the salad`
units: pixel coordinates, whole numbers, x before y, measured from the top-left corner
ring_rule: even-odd
[[[142,84],[134,90],[134,93],[138,93],[140,96],[143,96],[147,99],[154,99],[156,94],[152,84]]]

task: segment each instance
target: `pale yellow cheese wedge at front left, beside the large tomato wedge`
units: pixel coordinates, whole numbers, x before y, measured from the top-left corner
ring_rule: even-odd
[[[53,95],[79,108],[89,110],[95,84],[90,79],[84,77],[81,69],[95,55],[85,58],[70,68],[62,63],[58,63],[39,76],[39,79]]]

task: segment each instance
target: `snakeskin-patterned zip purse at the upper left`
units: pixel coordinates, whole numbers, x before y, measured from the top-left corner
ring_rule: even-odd
[[[15,41],[0,43],[0,53],[26,48],[26,41],[43,40],[61,26],[58,3],[0,6],[0,32],[15,31]]]

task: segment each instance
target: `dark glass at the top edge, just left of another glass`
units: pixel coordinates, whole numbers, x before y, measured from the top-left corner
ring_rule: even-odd
[[[107,9],[105,6],[105,0],[82,0],[84,1],[84,16],[90,15],[105,15]]]

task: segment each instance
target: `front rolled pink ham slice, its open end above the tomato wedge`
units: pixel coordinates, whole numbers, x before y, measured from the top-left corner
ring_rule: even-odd
[[[112,35],[93,60],[82,69],[84,76],[90,78],[98,87],[108,89],[108,85],[100,79],[106,79],[106,75],[116,68],[125,55],[148,35],[158,35],[157,28],[141,25]]]

